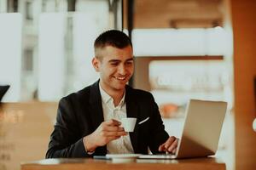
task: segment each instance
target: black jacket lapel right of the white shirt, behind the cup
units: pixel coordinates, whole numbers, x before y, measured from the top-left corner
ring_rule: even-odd
[[[136,117],[138,118],[138,107],[136,99],[133,98],[131,88],[126,86],[125,88],[125,103],[126,103],[126,113],[127,117]],[[134,128],[133,133],[129,133],[131,138],[131,144],[135,153],[139,152],[137,138],[138,138],[138,126],[137,122]]]

